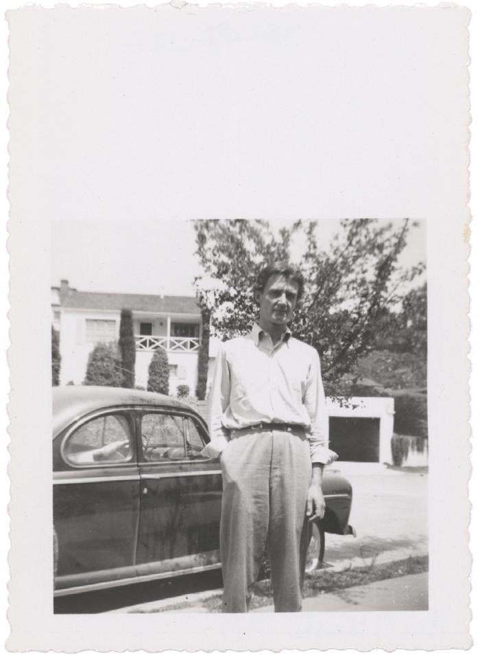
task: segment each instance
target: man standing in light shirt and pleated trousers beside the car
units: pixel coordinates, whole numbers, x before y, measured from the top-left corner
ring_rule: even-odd
[[[223,343],[211,389],[211,437],[224,483],[220,553],[225,612],[248,611],[265,544],[276,612],[302,608],[308,520],[322,518],[328,450],[324,389],[316,350],[287,323],[303,292],[287,264],[265,266],[254,298],[259,323]]]

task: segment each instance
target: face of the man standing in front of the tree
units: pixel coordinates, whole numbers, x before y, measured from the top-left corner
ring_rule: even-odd
[[[298,297],[298,284],[283,275],[272,275],[265,289],[257,291],[256,301],[260,306],[261,323],[287,325],[293,314]]]

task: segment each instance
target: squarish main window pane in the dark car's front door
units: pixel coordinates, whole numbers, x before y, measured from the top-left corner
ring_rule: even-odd
[[[143,457],[147,461],[185,459],[183,420],[173,414],[142,416]]]

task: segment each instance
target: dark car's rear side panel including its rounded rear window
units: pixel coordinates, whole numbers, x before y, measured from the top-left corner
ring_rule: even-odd
[[[54,442],[56,595],[136,576],[140,478],[134,419],[100,411]]]

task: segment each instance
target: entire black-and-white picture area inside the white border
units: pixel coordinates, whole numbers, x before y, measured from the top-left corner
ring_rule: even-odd
[[[428,609],[426,236],[51,223],[55,612]]]

